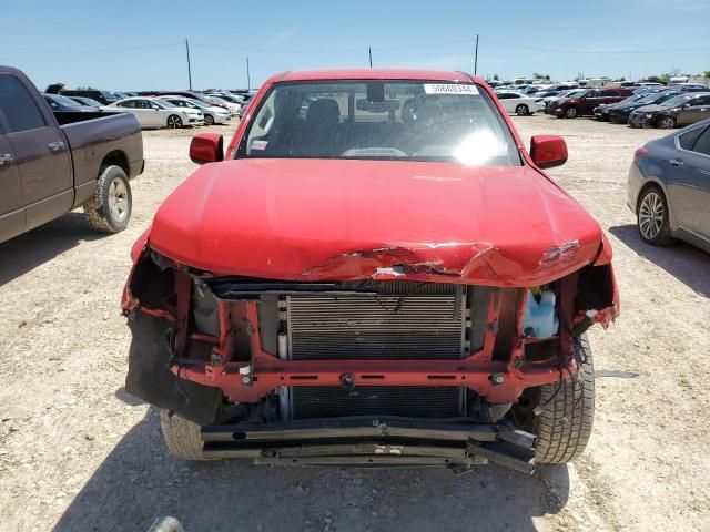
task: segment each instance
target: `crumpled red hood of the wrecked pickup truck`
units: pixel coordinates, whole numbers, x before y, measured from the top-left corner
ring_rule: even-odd
[[[150,246],[215,274],[532,286],[591,263],[597,222],[528,166],[327,160],[209,164]]]

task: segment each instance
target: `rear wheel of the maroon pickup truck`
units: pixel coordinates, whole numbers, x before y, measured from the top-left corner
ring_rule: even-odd
[[[102,233],[120,233],[131,218],[133,196],[129,178],[120,166],[101,170],[93,198],[84,204],[89,224]]]

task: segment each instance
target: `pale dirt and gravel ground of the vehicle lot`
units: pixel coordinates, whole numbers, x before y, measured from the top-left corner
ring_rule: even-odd
[[[633,150],[661,132],[545,115],[515,123],[525,139],[565,136],[569,162],[550,174],[615,248],[622,316],[590,334],[598,407],[578,462],[456,477],[169,456],[156,412],[123,390],[119,296],[131,244],[194,170],[192,132],[145,132],[128,231],[97,235],[74,212],[0,244],[0,530],[144,531],[165,514],[189,532],[710,530],[710,256],[643,245],[626,206]]]

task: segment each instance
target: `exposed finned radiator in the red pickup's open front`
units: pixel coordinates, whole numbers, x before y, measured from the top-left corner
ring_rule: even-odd
[[[288,296],[288,358],[443,360],[467,354],[465,287],[393,280],[377,283],[376,290]],[[283,393],[294,419],[463,413],[463,390],[455,387],[294,387]]]

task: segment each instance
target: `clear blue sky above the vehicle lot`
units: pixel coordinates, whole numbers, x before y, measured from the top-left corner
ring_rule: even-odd
[[[0,64],[41,89],[186,88],[184,38],[195,89],[245,86],[247,55],[252,86],[281,70],[366,66],[368,45],[375,66],[473,71],[476,33],[481,75],[710,70],[710,0],[0,0]]]

